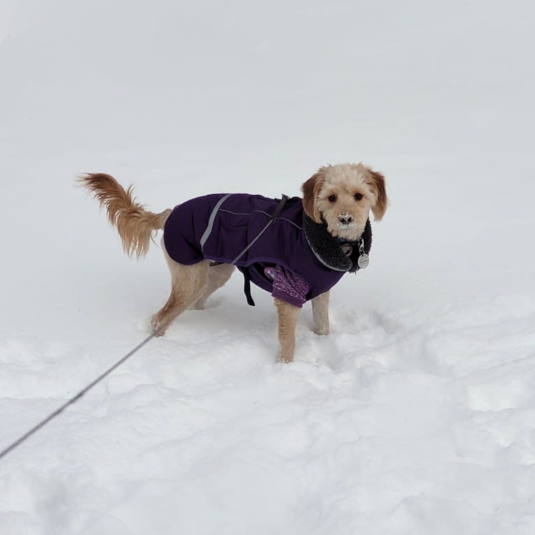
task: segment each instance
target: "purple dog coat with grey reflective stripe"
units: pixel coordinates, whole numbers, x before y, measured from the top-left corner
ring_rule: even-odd
[[[233,263],[256,286],[301,307],[330,290],[349,268],[325,263],[311,248],[299,197],[286,200],[268,224],[280,202],[247,193],[213,193],[187,200],[166,221],[163,242],[168,255],[184,265],[203,260]],[[371,229],[369,237],[366,252]]]

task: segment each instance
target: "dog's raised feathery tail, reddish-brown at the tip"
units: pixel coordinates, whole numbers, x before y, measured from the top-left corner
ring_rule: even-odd
[[[171,210],[154,214],[145,210],[132,196],[133,186],[126,191],[111,175],[91,173],[78,177],[80,183],[105,207],[108,219],[117,228],[123,249],[129,256],[145,256],[156,230],[163,228]]]

